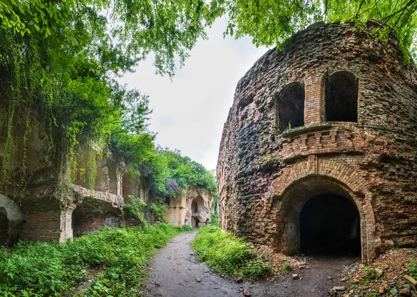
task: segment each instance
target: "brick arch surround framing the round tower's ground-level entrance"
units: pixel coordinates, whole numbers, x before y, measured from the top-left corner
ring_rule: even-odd
[[[368,262],[375,256],[375,215],[370,203],[372,195],[367,190],[367,183],[352,167],[333,160],[321,160],[311,156],[302,162],[297,162],[284,169],[281,176],[272,182],[266,197],[265,211],[271,211],[272,217],[277,219],[277,242],[275,246],[284,253],[297,252],[297,239],[289,242],[288,213],[301,211],[302,205],[311,198],[304,197],[305,201],[294,201],[294,189],[306,189],[305,195],[320,194],[326,189],[329,194],[343,196],[357,207],[361,219],[361,246],[362,261]],[[321,193],[323,194],[323,193]],[[300,196],[300,195],[299,195]],[[301,199],[304,199],[301,198]],[[288,210],[287,205],[292,205]],[[286,217],[287,216],[287,217]],[[297,236],[297,235],[295,235]]]

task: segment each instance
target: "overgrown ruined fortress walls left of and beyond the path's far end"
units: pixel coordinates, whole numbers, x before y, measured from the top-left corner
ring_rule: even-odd
[[[26,144],[21,140],[17,141],[17,151],[22,151],[23,147],[27,150],[24,164],[27,187],[0,190],[0,245],[12,245],[18,239],[63,242],[106,226],[117,227],[123,223],[124,203],[130,202],[130,195],[145,202],[154,199],[149,181],[142,176],[131,176],[124,160],[98,153],[95,189],[88,189],[76,178],[67,184],[70,197],[63,201],[56,196],[58,180],[62,177],[46,157],[48,135],[42,125],[33,121]],[[5,146],[6,142],[0,137],[0,152]],[[0,157],[0,165],[1,162]],[[81,154],[77,162],[84,167],[88,161]],[[17,183],[22,162],[15,160],[11,166]],[[198,227],[211,222],[213,196],[204,189],[192,187],[168,202],[170,208],[164,212],[168,223]],[[147,219],[152,222],[149,214]]]

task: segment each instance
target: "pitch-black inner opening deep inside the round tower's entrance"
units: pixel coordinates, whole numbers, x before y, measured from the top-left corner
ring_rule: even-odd
[[[320,194],[300,214],[300,250],[306,254],[361,255],[357,208],[343,196]]]

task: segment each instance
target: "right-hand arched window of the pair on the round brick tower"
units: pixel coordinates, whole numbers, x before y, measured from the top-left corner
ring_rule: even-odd
[[[325,92],[326,121],[358,121],[359,80],[348,71],[327,78]]]

